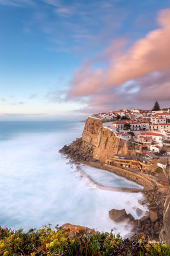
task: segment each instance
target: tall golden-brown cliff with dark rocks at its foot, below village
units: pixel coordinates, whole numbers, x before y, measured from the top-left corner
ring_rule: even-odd
[[[97,159],[105,162],[115,154],[134,154],[129,141],[120,140],[113,132],[103,128],[102,120],[88,118],[82,138],[64,146],[60,152],[69,154],[75,160]]]

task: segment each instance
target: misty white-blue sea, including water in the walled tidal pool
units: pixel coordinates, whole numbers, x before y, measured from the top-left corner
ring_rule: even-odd
[[[115,224],[108,211],[125,208],[135,218],[141,193],[94,188],[58,150],[81,136],[79,122],[0,122],[0,225],[12,229],[72,223],[122,236],[124,223]],[[140,188],[135,182],[85,167],[97,182]]]

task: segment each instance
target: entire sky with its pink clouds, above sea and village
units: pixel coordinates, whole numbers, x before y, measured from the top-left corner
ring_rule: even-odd
[[[169,0],[0,0],[0,120],[170,108]]]

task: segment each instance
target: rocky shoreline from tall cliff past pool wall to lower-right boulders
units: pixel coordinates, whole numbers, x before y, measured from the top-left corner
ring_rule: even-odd
[[[132,229],[130,235],[140,233],[143,236],[150,236],[151,239],[161,239],[169,243],[169,233],[167,233],[169,232],[167,221],[170,216],[169,186],[164,183],[161,184],[151,175],[157,168],[157,163],[155,161],[147,164],[140,163],[140,169],[131,168],[123,164],[122,166],[114,164],[116,163],[114,156],[131,156],[132,161],[136,163],[136,151],[131,141],[117,138],[114,132],[103,127],[102,120],[89,117],[83,129],[82,137],[76,139],[70,145],[65,145],[59,152],[67,155],[74,163],[84,163],[114,172],[141,184],[144,189],[115,188],[115,191],[142,192],[145,200],[141,204],[148,205],[146,216],[139,220],[131,221]],[[138,161],[141,160],[139,159]],[[146,172],[143,172],[144,169]],[[78,167],[78,171],[83,172],[80,167]],[[86,173],[83,173],[83,176],[97,187],[101,186],[101,184],[95,184],[94,180],[90,180]],[[166,208],[164,208],[165,201]]]

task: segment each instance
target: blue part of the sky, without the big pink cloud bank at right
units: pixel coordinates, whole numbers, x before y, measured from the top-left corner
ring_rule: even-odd
[[[76,120],[98,109],[142,107],[142,100],[139,106],[131,99],[124,104],[121,100],[107,102],[107,93],[126,95],[124,88],[129,84],[128,93],[133,97],[141,77],[135,85],[130,79],[110,87],[110,92],[97,88],[72,97],[69,91],[82,63],[90,63],[92,70],[107,68],[111,60],[106,50],[113,42],[125,40],[124,51],[128,51],[159,28],[157,15],[168,8],[169,0],[0,0],[0,120]],[[148,75],[153,72],[142,76],[145,82]],[[162,76],[167,74],[159,73]],[[81,88],[81,84],[76,86]],[[100,104],[102,95],[108,104]],[[159,99],[159,94],[155,97],[162,106],[169,102],[163,96]],[[150,108],[155,100],[146,100],[143,107]]]

